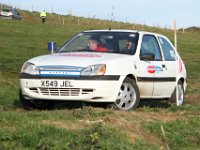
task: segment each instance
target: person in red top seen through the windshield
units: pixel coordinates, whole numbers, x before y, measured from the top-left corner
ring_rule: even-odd
[[[95,36],[91,36],[88,39],[88,48],[93,51],[98,51],[98,52],[107,52],[108,49],[104,47],[99,39]]]

